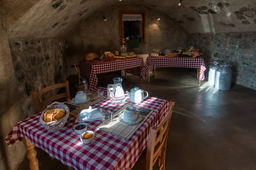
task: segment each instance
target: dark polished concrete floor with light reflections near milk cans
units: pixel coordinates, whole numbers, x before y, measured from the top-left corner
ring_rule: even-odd
[[[99,75],[99,86],[106,87],[120,74]],[[176,101],[166,170],[256,169],[256,91],[240,85],[231,91],[217,91],[206,81],[198,88],[195,76],[195,69],[157,68],[150,83],[144,80],[139,84],[136,76],[123,77],[125,90],[138,86],[150,96]],[[50,161],[42,150],[37,151],[40,169],[66,168],[56,159]],[[18,170],[25,169],[29,169],[26,158]]]

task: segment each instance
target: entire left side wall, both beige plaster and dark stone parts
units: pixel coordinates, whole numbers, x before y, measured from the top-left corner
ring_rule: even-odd
[[[7,147],[4,138],[17,122],[37,113],[30,91],[38,91],[67,79],[67,62],[63,54],[63,38],[18,39],[9,40],[8,43],[7,37],[3,42],[2,35],[0,34],[0,170],[14,170],[26,153],[25,147],[22,142]],[[50,91],[43,98],[56,92]]]

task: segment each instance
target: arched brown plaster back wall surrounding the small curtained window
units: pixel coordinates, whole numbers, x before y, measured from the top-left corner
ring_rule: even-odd
[[[135,48],[136,54],[150,54],[153,48],[160,48],[162,51],[179,46],[185,48],[185,31],[166,14],[143,6],[120,6],[99,11],[67,35],[69,66],[72,65],[72,61],[78,62],[89,52],[100,54],[100,50],[119,51],[122,47],[119,44],[119,10],[146,11],[146,44],[140,44],[139,48]],[[108,21],[103,21],[102,16],[107,16]],[[157,17],[161,20],[156,21]],[[127,51],[132,51],[128,45],[126,47]],[[73,68],[70,69],[70,74],[76,74]]]

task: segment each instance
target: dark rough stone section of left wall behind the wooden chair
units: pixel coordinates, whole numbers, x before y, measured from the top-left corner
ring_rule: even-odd
[[[65,40],[9,40],[9,43],[22,113],[24,118],[30,117],[37,113],[30,92],[39,91],[67,79]],[[42,99],[56,93],[54,90],[49,91],[42,95]]]

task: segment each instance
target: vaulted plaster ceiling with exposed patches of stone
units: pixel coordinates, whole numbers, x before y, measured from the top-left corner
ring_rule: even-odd
[[[9,38],[59,37],[97,11],[139,5],[161,11],[188,33],[256,31],[255,0],[2,0]]]

